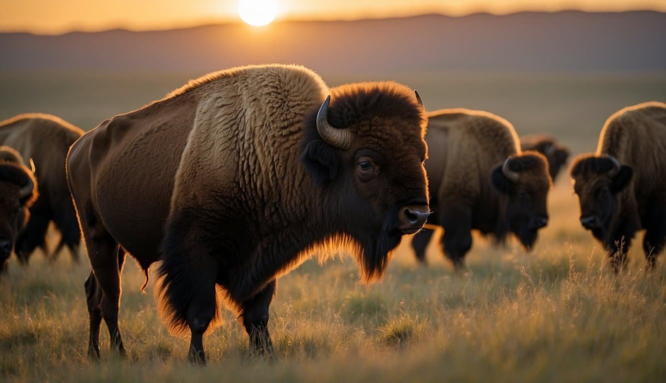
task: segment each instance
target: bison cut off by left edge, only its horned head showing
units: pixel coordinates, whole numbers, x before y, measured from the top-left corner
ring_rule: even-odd
[[[8,146],[0,146],[0,273],[30,217],[29,209],[37,199],[37,181],[23,164],[21,155]]]

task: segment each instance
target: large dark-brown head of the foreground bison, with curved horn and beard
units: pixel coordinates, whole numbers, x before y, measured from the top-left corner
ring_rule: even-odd
[[[340,86],[312,120],[302,160],[324,194],[323,213],[358,245],[365,279],[380,277],[402,235],[430,214],[418,93],[393,82]]]

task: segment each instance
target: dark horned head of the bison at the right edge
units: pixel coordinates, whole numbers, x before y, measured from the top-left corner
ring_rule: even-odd
[[[581,225],[602,240],[617,213],[618,194],[633,176],[631,166],[612,156],[583,155],[571,166],[573,190],[581,207]]]

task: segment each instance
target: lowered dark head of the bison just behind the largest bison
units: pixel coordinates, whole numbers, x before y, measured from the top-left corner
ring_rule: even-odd
[[[548,223],[546,197],[551,180],[546,159],[537,152],[511,156],[494,168],[491,179],[503,195],[501,209],[508,229],[531,249],[537,231]]]

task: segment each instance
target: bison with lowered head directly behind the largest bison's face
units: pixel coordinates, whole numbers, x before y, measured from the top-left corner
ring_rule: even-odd
[[[444,255],[456,269],[472,247],[472,229],[503,241],[514,233],[529,249],[548,222],[548,164],[537,152],[521,152],[513,126],[477,110],[451,109],[428,115],[430,179],[428,223],[444,227]],[[416,257],[426,259],[432,230],[414,236]]]

